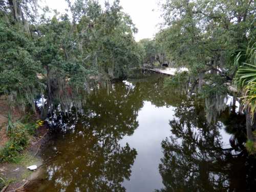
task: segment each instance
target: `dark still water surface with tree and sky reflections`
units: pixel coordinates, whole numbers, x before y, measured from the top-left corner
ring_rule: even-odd
[[[42,152],[46,165],[29,191],[256,191],[244,116],[225,100],[206,108],[163,80],[99,86],[83,115],[55,116],[62,131]],[[212,110],[216,103],[223,111]]]

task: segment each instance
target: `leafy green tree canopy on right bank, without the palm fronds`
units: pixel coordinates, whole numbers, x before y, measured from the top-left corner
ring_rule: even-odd
[[[250,40],[255,41],[254,10],[249,0],[166,0],[164,28],[156,38],[167,57],[194,76],[218,72],[231,81],[237,70],[233,57]]]

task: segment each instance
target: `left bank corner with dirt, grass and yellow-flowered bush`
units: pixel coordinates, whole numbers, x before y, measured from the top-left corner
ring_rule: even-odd
[[[43,163],[39,152],[47,141],[48,128],[44,121],[37,120],[38,115],[26,115],[18,109],[12,110],[14,116],[8,114],[5,97],[1,97],[0,105],[0,188],[10,191],[33,179],[34,173],[27,166]]]

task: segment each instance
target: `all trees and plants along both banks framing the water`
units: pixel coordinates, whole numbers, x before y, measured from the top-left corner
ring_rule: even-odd
[[[54,128],[47,117],[77,115],[91,89],[125,79],[144,63],[173,75],[166,89],[186,87],[188,97],[205,98],[209,109],[207,102],[232,94],[232,105],[239,100],[238,113],[246,116],[244,146],[256,154],[254,1],[165,0],[161,29],[138,42],[118,0],[103,7],[94,0],[66,2],[66,13],[50,17],[48,7],[38,15],[37,1],[0,0],[0,168],[36,161]],[[0,189],[6,182],[0,175]]]

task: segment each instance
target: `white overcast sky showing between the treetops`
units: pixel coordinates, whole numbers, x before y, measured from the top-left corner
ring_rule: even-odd
[[[112,2],[111,0],[110,2]],[[104,5],[104,0],[99,0]],[[138,28],[135,39],[152,38],[158,31],[160,22],[159,0],[120,0],[123,11],[128,13]],[[65,0],[42,0],[42,6],[48,5],[50,9],[57,9],[60,13],[67,8]]]

